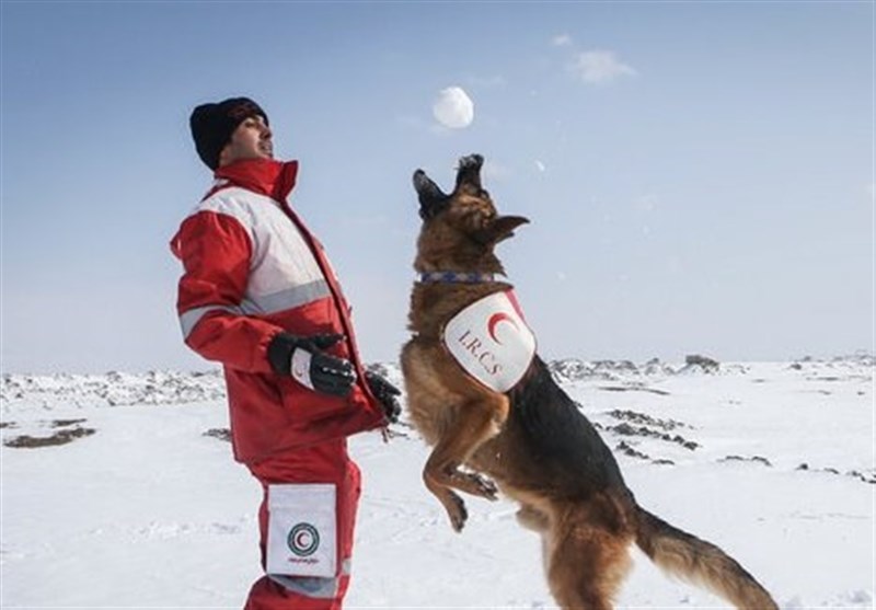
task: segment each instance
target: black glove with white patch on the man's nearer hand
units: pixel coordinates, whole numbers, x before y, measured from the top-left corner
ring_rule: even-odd
[[[290,375],[315,392],[346,396],[356,381],[353,364],[323,352],[344,335],[299,337],[279,333],[267,346],[267,359],[277,375]]]

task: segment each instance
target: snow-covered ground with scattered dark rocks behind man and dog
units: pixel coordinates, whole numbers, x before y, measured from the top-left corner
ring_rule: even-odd
[[[719,544],[786,609],[874,605],[874,360],[553,364],[639,503]],[[397,367],[384,366],[399,381]],[[7,375],[2,608],[240,608],[260,487],[216,371]],[[347,608],[553,606],[534,533],[469,498],[453,533],[404,424],[354,437],[365,476]],[[633,552],[622,607],[719,599]]]

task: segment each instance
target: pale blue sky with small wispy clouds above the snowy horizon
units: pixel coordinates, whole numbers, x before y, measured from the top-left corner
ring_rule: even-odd
[[[354,303],[406,341],[411,174],[481,152],[548,358],[874,346],[872,2],[12,2],[2,368],[199,369],[168,242],[209,173],[196,104],[249,95]],[[593,59],[602,58],[602,61]],[[440,128],[438,92],[474,101]]]

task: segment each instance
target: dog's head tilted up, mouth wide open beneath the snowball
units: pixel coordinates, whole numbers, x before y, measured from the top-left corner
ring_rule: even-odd
[[[423,170],[414,172],[423,219],[414,263],[417,271],[503,273],[495,246],[529,220],[522,216],[499,216],[489,193],[481,185],[483,164],[480,154],[461,158],[457,186],[450,195]]]

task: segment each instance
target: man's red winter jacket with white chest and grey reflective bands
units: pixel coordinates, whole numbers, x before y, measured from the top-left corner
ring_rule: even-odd
[[[297,174],[296,161],[220,168],[171,241],[185,269],[176,304],[185,343],[224,365],[234,457],[245,463],[385,425],[328,260],[286,202]],[[274,373],[267,345],[280,331],[343,334],[327,352],[354,364],[353,392],[331,396]]]

